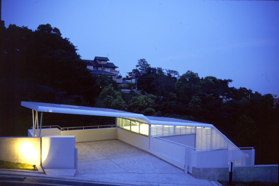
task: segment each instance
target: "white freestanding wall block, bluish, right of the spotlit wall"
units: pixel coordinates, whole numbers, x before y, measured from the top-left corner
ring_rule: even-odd
[[[42,137],[43,169],[75,169],[75,136]]]

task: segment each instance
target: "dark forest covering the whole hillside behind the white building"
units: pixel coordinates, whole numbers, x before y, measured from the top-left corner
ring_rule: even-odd
[[[130,93],[105,75],[93,77],[77,47],[60,30],[36,30],[1,21],[1,136],[26,136],[30,109],[21,101],[113,108],[147,116],[213,124],[238,147],[254,147],[256,164],[278,164],[279,107],[270,94],[229,87],[231,79],[151,67],[135,61],[137,82]],[[210,74],[209,74],[210,75]],[[44,125],[92,126],[114,123],[104,117],[47,113]]]

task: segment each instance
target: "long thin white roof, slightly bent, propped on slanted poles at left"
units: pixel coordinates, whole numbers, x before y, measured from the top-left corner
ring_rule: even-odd
[[[109,116],[123,117],[138,122],[149,123],[151,125],[172,125],[172,126],[196,126],[196,127],[214,127],[211,124],[193,122],[188,120],[169,118],[169,117],[153,117],[144,116],[143,114],[130,113],[109,108],[83,107],[65,104],[51,104],[22,101],[21,106],[37,110],[38,112],[52,112],[65,114],[83,114],[92,116]]]

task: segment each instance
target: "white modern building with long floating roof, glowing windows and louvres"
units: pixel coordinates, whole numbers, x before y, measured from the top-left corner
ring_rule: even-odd
[[[21,105],[32,109],[29,137],[75,136],[75,142],[119,139],[190,174],[194,169],[225,168],[229,162],[234,166],[254,166],[253,148],[238,148],[211,124],[106,108],[37,102],[21,102]],[[43,112],[115,117],[115,124],[108,128],[42,126]]]

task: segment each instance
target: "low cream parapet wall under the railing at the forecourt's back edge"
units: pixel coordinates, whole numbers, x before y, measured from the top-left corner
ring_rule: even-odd
[[[76,142],[116,139],[117,128],[61,131],[61,135],[75,135]]]

